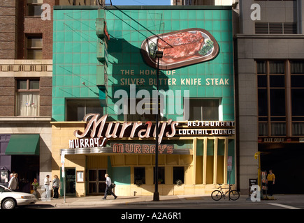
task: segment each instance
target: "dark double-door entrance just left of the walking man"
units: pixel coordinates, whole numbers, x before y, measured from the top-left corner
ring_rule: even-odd
[[[88,194],[104,194],[106,190],[106,169],[89,169]]]

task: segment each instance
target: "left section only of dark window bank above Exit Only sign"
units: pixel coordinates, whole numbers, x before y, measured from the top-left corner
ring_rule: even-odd
[[[259,135],[286,135],[285,61],[257,61]],[[270,123],[270,125],[269,125]]]

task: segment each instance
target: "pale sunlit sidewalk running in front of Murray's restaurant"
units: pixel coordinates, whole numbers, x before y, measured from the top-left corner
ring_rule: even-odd
[[[229,198],[221,199],[220,201],[213,201],[210,195],[177,195],[177,196],[160,196],[159,201],[153,201],[153,196],[119,196],[114,199],[113,196],[108,196],[106,200],[102,199],[103,196],[87,196],[87,197],[64,197],[59,199],[51,199],[48,201],[39,199],[36,205],[50,205],[53,207],[70,207],[73,206],[132,206],[132,205],[176,205],[176,204],[203,204],[203,203],[240,203],[240,202],[252,202],[248,195],[241,195],[237,201],[229,201]],[[294,200],[303,201],[304,195],[275,195],[274,200],[266,200],[266,202],[288,202]],[[261,200],[263,202],[263,200]],[[252,202],[256,203],[256,202]],[[170,206],[169,206],[170,208]],[[172,206],[174,208],[174,206]]]

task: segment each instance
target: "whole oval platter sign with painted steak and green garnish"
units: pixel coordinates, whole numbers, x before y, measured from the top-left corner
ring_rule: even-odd
[[[156,52],[164,52],[157,59]],[[219,54],[215,37],[205,29],[190,28],[147,37],[140,53],[152,68],[172,70],[195,63],[210,61]]]

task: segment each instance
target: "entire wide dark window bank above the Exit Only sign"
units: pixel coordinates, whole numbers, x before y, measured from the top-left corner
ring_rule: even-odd
[[[256,61],[256,68],[259,136],[303,136],[304,62]]]

